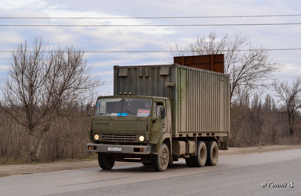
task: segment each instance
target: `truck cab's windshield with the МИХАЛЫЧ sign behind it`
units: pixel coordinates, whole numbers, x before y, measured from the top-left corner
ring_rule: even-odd
[[[151,100],[139,98],[105,98],[96,104],[95,116],[149,117]]]

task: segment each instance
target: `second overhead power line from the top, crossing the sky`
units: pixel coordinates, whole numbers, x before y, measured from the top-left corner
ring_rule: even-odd
[[[265,23],[265,24],[185,24],[185,25],[0,25],[0,26],[86,26],[86,27],[95,27],[95,26],[250,26],[250,25],[295,25],[301,23]]]

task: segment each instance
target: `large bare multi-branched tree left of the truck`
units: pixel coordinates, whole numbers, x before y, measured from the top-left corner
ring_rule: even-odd
[[[85,51],[74,45],[46,51],[47,43],[36,37],[32,48],[20,43],[12,52],[10,68],[2,87],[0,107],[28,129],[29,156],[39,160],[45,133],[68,104],[83,102],[102,85],[87,65]],[[12,133],[13,134],[13,133]]]

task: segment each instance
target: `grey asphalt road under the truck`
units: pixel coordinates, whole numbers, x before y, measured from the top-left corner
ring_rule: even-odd
[[[2,177],[0,195],[301,195],[301,149],[220,157],[202,168],[174,163],[165,172],[132,164]]]

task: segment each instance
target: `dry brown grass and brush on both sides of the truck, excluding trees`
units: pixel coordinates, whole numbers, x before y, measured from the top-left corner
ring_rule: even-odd
[[[295,116],[296,121],[300,118]],[[301,143],[301,124],[294,124],[290,136],[286,116],[276,112],[265,112],[259,108],[231,108],[230,147],[261,145],[296,145]],[[38,164],[56,161],[78,161],[96,159],[95,154],[85,150],[89,143],[90,121],[85,116],[60,117],[53,121],[43,140],[40,161],[31,162],[29,157],[29,131],[16,124],[0,111],[0,164]],[[37,135],[36,135],[37,136]]]

